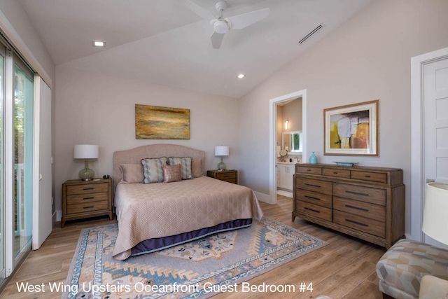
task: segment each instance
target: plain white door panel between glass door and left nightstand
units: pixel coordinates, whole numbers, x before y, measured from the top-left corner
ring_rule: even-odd
[[[35,84],[35,181],[33,213],[33,250],[39,249],[52,230],[51,218],[51,90],[41,77]]]

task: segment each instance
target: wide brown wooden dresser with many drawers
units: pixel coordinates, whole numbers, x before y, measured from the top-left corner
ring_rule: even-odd
[[[405,235],[402,169],[296,164],[295,216],[388,249]]]

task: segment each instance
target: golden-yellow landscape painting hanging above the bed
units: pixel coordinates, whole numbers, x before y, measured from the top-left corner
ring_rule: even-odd
[[[190,139],[190,109],[135,104],[135,139]]]

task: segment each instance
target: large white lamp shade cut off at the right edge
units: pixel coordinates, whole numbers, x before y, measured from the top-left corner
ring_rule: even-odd
[[[448,183],[427,183],[423,232],[448,245]]]

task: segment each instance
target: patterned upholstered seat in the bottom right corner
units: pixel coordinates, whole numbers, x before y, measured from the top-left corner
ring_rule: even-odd
[[[377,263],[380,291],[394,298],[418,298],[426,274],[448,279],[448,250],[402,239]]]

